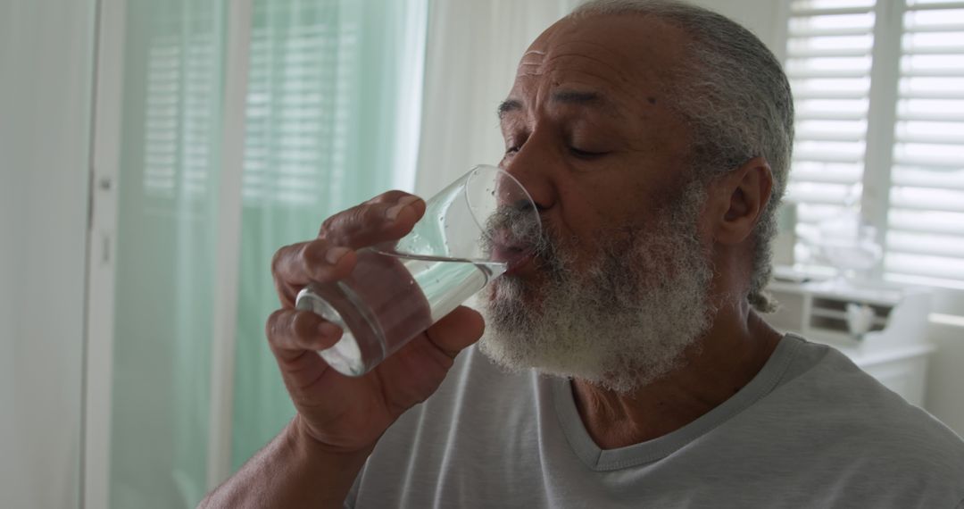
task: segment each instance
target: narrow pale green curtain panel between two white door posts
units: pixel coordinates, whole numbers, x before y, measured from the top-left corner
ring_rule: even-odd
[[[206,487],[226,7],[126,6],[111,507]]]

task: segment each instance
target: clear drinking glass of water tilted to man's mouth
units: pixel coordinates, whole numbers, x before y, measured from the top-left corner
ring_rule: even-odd
[[[344,334],[318,352],[338,372],[359,376],[532,255],[539,212],[522,184],[476,166],[425,202],[425,215],[397,242],[364,248],[348,278],[310,283],[295,307]]]

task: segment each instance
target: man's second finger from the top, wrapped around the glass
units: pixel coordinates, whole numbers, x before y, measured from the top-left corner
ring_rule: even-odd
[[[271,260],[281,304],[293,306],[294,292],[309,281],[333,282],[347,278],[357,261],[357,255],[350,248],[332,245],[325,239],[281,248]]]

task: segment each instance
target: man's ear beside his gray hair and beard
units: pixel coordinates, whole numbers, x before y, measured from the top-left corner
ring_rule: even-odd
[[[746,240],[757,226],[772,189],[773,173],[763,157],[754,157],[717,179],[710,191],[713,239],[722,244]]]

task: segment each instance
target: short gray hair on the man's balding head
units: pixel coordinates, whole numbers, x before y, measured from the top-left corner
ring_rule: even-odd
[[[690,166],[695,178],[709,184],[754,157],[769,163],[773,190],[755,227],[748,299],[760,311],[773,311],[775,302],[764,289],[772,271],[777,207],[787,188],[793,149],[793,100],[780,62],[749,30],[681,1],[590,0],[570,17],[599,14],[650,15],[689,36],[669,99],[693,140]]]

